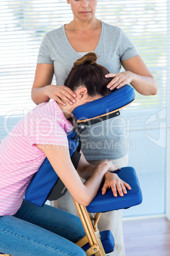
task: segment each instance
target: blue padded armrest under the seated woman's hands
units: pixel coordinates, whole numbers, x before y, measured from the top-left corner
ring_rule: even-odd
[[[136,176],[136,172],[133,167],[122,167],[121,170],[115,171],[119,178],[126,181],[130,186],[131,190],[128,190],[127,194],[124,194],[123,197],[118,196],[114,197],[111,189],[107,190],[105,195],[101,194],[101,188],[103,184],[101,184],[98,194],[91,201],[91,203],[86,207],[89,213],[98,213],[105,211],[113,211],[119,209],[129,208],[131,206],[135,206],[142,202],[142,193],[138,178]]]

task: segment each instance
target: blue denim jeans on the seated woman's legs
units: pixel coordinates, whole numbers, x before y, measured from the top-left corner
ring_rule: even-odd
[[[0,252],[13,256],[83,256],[74,244],[83,236],[79,218],[48,205],[23,200],[14,216],[0,217]]]

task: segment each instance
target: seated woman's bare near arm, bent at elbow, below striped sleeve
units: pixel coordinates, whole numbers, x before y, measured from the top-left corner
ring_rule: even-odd
[[[69,148],[58,145],[36,145],[48,157],[56,174],[65,184],[72,197],[84,206],[96,196],[105,173],[112,169],[112,162],[103,160],[93,170],[91,177],[83,184],[70,159]]]

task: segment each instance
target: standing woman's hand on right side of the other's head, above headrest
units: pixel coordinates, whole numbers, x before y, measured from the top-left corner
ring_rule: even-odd
[[[119,89],[128,83],[133,82],[134,74],[131,71],[124,71],[121,73],[109,73],[105,75],[106,78],[113,78],[110,83],[108,83],[107,88],[114,90],[115,88]]]

